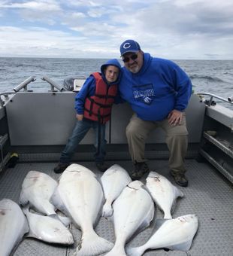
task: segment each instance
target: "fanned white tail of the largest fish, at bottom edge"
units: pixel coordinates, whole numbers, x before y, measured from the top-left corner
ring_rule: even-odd
[[[84,255],[98,255],[103,254],[113,248],[113,243],[98,236],[95,231],[88,236],[82,236],[80,245],[77,245],[77,249],[74,252],[74,256]]]

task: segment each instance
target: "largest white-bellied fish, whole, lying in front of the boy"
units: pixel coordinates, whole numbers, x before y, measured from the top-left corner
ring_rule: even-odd
[[[63,172],[58,189],[65,209],[82,230],[74,255],[98,255],[110,251],[113,244],[98,236],[93,229],[104,199],[95,174],[84,166],[72,164]]]

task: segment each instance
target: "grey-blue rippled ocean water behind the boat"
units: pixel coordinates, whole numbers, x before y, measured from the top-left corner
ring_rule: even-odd
[[[41,80],[45,75],[62,86],[65,78],[88,77],[99,71],[106,60],[1,57],[0,92],[11,91],[32,75],[36,81],[29,84],[28,90],[47,91],[50,84]],[[233,60],[179,59],[174,62],[189,75],[195,93],[214,93],[225,99],[233,96]],[[227,103],[223,105],[229,106]]]

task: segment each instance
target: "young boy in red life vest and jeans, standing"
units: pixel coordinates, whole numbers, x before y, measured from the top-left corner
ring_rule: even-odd
[[[71,157],[86,133],[95,130],[95,163],[101,172],[107,169],[105,156],[105,123],[110,120],[111,108],[118,93],[120,62],[110,59],[101,66],[101,73],[95,72],[86,79],[75,97],[77,123],[62,151],[54,172],[63,172],[70,164]]]

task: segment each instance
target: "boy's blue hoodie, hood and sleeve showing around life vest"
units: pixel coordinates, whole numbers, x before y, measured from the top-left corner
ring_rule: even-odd
[[[113,83],[108,83],[106,81],[105,75],[104,75],[104,69],[107,66],[116,66],[120,69],[120,74],[117,78],[117,80]],[[105,83],[110,87],[111,84],[119,84],[120,78],[121,78],[121,66],[120,62],[117,59],[109,59],[107,62],[105,62],[101,66],[101,77],[105,81]],[[85,104],[86,97],[94,96],[95,95],[95,78],[93,75],[90,75],[89,78],[86,79],[86,81],[83,84],[83,87],[81,88],[80,92],[77,93],[75,97],[75,109],[77,111],[77,114],[83,114],[83,108]]]

